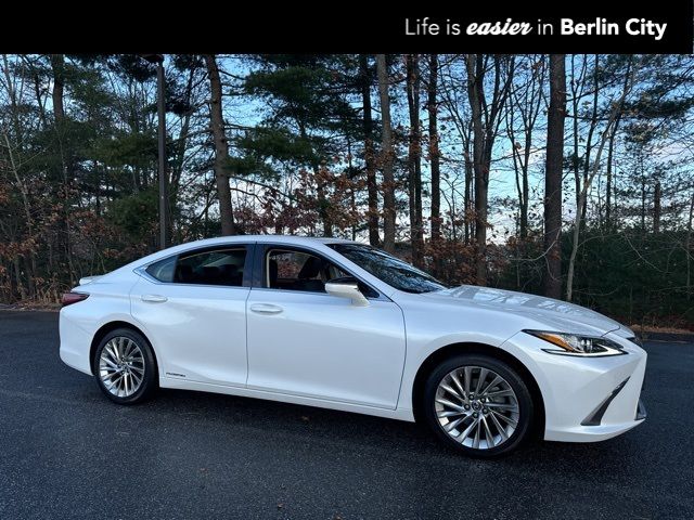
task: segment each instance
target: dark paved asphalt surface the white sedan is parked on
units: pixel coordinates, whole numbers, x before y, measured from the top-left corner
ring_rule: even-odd
[[[64,366],[57,314],[0,311],[0,518],[693,518],[694,344],[648,343],[648,419],[471,460],[411,424],[162,391]]]

